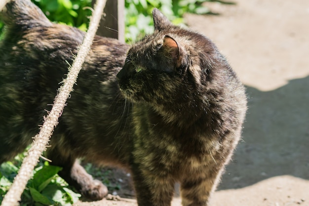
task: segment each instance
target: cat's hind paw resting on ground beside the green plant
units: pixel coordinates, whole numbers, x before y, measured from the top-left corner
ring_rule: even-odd
[[[99,180],[93,180],[92,184],[81,189],[81,195],[89,200],[102,200],[108,193],[107,187]]]

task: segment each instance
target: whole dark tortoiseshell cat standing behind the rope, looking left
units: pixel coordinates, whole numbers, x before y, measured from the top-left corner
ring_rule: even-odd
[[[84,197],[107,188],[77,158],[132,173],[139,206],[207,206],[241,136],[244,86],[205,36],[153,10],[154,33],[129,46],[96,36],[46,157]],[[51,23],[30,0],[1,12],[0,163],[39,131],[84,32]]]

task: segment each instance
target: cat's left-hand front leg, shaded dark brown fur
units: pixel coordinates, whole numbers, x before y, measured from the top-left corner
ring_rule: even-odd
[[[132,173],[138,206],[171,205],[175,183],[171,178],[138,165],[134,165]]]

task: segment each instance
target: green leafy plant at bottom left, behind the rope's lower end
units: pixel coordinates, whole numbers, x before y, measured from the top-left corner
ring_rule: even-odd
[[[6,162],[0,166],[0,202],[12,185],[23,158],[24,155],[19,155],[13,162]],[[61,167],[40,162],[21,196],[20,205],[71,206],[76,203],[80,195],[69,189],[68,184],[57,175],[60,170]]]

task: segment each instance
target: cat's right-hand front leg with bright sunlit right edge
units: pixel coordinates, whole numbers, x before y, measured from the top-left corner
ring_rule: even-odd
[[[220,172],[219,172],[220,173]],[[191,175],[181,182],[180,192],[183,206],[208,206],[209,197],[214,191],[219,174]]]

